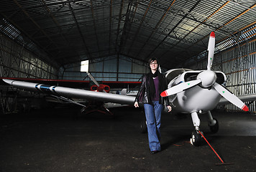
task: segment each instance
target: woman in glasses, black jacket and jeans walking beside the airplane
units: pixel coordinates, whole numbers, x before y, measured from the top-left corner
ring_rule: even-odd
[[[172,109],[168,97],[161,97],[161,92],[167,90],[165,76],[158,71],[158,62],[156,58],[149,60],[150,72],[142,79],[142,85],[135,98],[134,107],[139,107],[139,102],[144,103],[145,116],[147,120],[147,133],[150,145],[150,151],[155,154],[161,151],[160,146],[160,125],[163,105]]]

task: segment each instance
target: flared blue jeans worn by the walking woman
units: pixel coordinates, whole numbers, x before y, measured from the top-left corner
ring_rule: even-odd
[[[147,120],[148,141],[150,145],[150,151],[161,151],[160,126],[163,105],[159,104],[158,101],[153,101],[152,103],[153,105],[144,104]]]

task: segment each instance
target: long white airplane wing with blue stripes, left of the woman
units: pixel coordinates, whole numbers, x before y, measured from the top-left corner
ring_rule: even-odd
[[[42,85],[32,82],[16,81],[3,79],[9,85],[13,85],[22,90],[32,92],[42,92],[50,95],[58,95],[64,97],[83,98],[86,100],[96,100],[100,102],[116,102],[125,105],[134,105],[135,97],[127,95],[115,95],[106,92],[93,92],[91,90],[82,90],[70,87],[58,87],[50,85]]]

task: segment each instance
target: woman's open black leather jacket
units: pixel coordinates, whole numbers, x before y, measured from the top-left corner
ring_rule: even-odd
[[[164,90],[159,90],[159,92],[163,92],[165,90],[167,90],[167,82],[165,79],[165,75],[160,74],[158,75],[160,80],[163,80],[164,82]],[[149,74],[144,75],[144,77],[142,78],[142,85],[140,86],[140,90],[137,93],[137,96],[135,98],[135,102],[142,102],[145,104],[152,104],[152,99],[150,97],[150,80],[149,80]],[[160,89],[160,87],[159,87]],[[165,104],[165,105],[170,105],[169,102],[169,98],[168,97],[161,97],[159,95],[159,103],[160,104]]]

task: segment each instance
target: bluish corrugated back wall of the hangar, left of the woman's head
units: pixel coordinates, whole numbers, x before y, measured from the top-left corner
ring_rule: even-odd
[[[60,68],[61,80],[90,80],[86,72],[80,72],[81,64],[70,64]],[[89,60],[89,72],[97,81],[139,81],[142,75],[149,72],[149,67],[139,60],[112,55]]]

